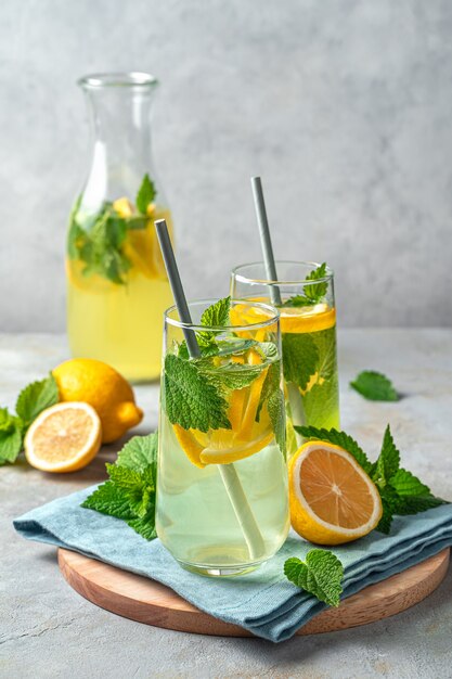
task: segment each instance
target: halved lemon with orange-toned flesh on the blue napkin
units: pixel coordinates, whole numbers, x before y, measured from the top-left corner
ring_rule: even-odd
[[[357,540],[383,512],[375,484],[354,458],[321,440],[305,444],[292,458],[289,501],[294,529],[318,545]]]

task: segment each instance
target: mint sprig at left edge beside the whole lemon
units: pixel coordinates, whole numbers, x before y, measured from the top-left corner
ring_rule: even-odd
[[[14,463],[24,447],[24,437],[31,422],[50,406],[59,402],[59,389],[52,373],[28,384],[17,397],[12,414],[0,408],[0,465]]]

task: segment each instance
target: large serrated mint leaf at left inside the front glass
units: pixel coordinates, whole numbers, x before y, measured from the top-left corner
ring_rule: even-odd
[[[231,428],[228,402],[191,361],[167,354],[164,380],[164,409],[171,424],[199,432]]]

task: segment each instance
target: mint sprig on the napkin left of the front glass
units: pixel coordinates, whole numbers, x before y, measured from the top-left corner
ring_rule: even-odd
[[[157,434],[134,436],[106,464],[109,481],[102,484],[81,507],[127,522],[146,540],[155,533],[155,488],[157,483]]]

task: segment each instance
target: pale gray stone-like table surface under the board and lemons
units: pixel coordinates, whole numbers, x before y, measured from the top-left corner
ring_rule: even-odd
[[[0,334],[1,405],[67,358],[61,335]],[[373,457],[388,422],[402,462],[452,500],[452,330],[345,330],[339,333],[343,427]],[[348,387],[360,370],[389,375],[397,403],[365,401]],[[157,423],[157,385],[137,387],[145,434]],[[260,639],[201,637],[141,625],[98,608],[73,591],[54,548],[25,541],[12,520],[105,478],[105,447],[85,470],[43,474],[25,462],[0,469],[0,677],[452,677],[452,578],[397,617],[351,630]]]

